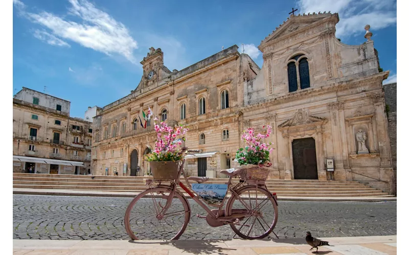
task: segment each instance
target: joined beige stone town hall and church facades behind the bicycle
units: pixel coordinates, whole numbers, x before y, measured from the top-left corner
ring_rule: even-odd
[[[160,48],[142,60],[131,93],[94,118],[92,173],[149,175],[145,155],[154,147],[153,120],[187,125],[187,174],[226,177],[247,127],[272,126],[271,179],[368,182],[389,191],[393,177],[382,71],[370,26],[362,44],[335,37],[338,14],[291,15],[261,41],[260,67],[238,47],[182,70],[164,65]],[[380,180],[380,181],[379,181]]]

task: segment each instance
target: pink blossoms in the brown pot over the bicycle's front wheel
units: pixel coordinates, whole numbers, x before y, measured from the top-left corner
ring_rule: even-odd
[[[161,122],[161,125],[156,123],[155,120],[155,132],[157,139],[155,142],[154,150],[147,155],[147,161],[179,161],[182,158],[182,154],[176,147],[182,143],[182,140],[175,141],[177,136],[183,136],[189,131],[188,128],[183,126],[168,126],[166,122]],[[162,138],[164,135],[164,138]]]

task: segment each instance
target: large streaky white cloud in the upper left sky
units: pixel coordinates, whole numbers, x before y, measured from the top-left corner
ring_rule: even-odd
[[[124,24],[86,0],[69,0],[69,2],[72,5],[69,14],[75,16],[76,20],[79,18],[80,21],[71,21],[65,16],[59,17],[46,11],[26,12],[24,15],[32,22],[49,29],[55,37],[74,41],[108,56],[119,54],[130,62],[137,63],[133,50],[138,48],[138,44],[130,36]]]

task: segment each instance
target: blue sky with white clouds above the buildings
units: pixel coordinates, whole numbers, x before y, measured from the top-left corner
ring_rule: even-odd
[[[140,1],[13,0],[13,94],[28,87],[71,101],[71,115],[126,96],[141,80],[148,48],[161,47],[165,65],[183,69],[221,50],[256,48],[289,15],[338,12],[336,36],[366,39],[366,24],[380,66],[396,81],[396,1]],[[385,82],[384,82],[385,83]]]

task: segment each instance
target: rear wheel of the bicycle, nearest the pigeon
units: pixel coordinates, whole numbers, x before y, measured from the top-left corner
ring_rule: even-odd
[[[225,216],[245,212],[251,216],[240,218],[240,225],[230,224],[233,231],[245,239],[267,237],[277,224],[278,207],[268,190],[255,185],[245,186],[232,194],[225,209]],[[236,210],[236,211],[235,211]]]

